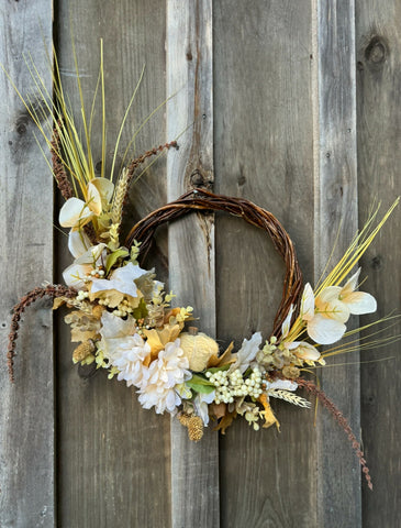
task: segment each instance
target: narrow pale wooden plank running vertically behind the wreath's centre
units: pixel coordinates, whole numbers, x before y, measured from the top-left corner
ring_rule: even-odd
[[[213,182],[212,2],[167,1],[167,138],[180,138],[168,154],[169,200]],[[214,219],[190,217],[169,227],[169,284],[181,302],[193,306],[199,327],[215,336]],[[218,527],[218,435],[198,444],[171,420],[172,527]]]

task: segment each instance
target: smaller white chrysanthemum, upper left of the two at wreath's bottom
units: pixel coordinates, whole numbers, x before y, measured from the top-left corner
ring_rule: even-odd
[[[140,334],[135,333],[119,340],[118,346],[113,351],[111,364],[120,372],[119,382],[124,380],[126,386],[135,385],[142,388],[146,385],[149,376],[148,369],[144,365],[144,360],[151,353],[151,346]]]

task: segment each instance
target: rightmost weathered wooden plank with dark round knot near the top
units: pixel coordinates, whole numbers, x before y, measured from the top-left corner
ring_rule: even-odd
[[[363,222],[375,197],[385,209],[401,195],[401,4],[357,1],[356,12],[358,201]],[[366,289],[377,298],[379,316],[392,309],[401,311],[400,227],[398,209],[363,263],[369,275]],[[364,322],[370,320],[372,317]],[[400,327],[391,331],[400,333]],[[397,359],[361,364],[361,432],[374,481],[374,493],[363,487],[366,528],[398,526],[400,517],[400,343],[361,355],[363,361],[382,358]]]

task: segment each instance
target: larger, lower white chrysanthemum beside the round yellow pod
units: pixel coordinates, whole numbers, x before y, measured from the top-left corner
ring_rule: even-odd
[[[180,340],[167,343],[165,350],[159,352],[158,359],[149,364],[147,383],[138,391],[142,406],[145,409],[155,406],[158,415],[165,410],[175,414],[181,404],[181,397],[175,386],[191,378],[188,367],[188,359],[180,349]]]

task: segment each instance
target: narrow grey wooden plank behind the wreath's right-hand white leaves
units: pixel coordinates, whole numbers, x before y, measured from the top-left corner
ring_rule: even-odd
[[[318,1],[314,15],[316,283],[332,254],[337,232],[331,267],[350,243],[357,231],[358,211],[354,2]],[[359,354],[355,353],[346,359],[331,359],[330,363],[358,360]],[[323,369],[320,380],[322,388],[358,435],[359,365]],[[361,524],[359,462],[344,431],[323,409],[319,413],[318,436],[318,526],[358,527]]]

